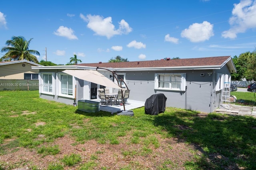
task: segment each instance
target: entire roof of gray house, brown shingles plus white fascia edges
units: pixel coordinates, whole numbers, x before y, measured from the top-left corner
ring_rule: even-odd
[[[63,66],[40,66],[39,69],[85,69],[108,68],[116,71],[128,70],[194,70],[194,69],[220,69],[227,65],[230,72],[236,72],[236,68],[230,56],[204,57],[194,59],[166,59],[153,61],[130,61],[120,63],[82,63]],[[33,68],[33,67],[32,67]],[[33,68],[37,69],[37,68]]]

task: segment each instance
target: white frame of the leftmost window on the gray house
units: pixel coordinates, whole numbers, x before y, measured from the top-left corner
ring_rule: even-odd
[[[52,83],[44,82],[43,75],[52,75]],[[54,88],[55,88],[55,79],[54,79],[55,73],[54,72],[41,72],[39,74],[39,92],[44,94],[54,94]],[[44,91],[44,87],[48,88],[48,91]],[[50,92],[50,88],[52,88],[52,92]]]

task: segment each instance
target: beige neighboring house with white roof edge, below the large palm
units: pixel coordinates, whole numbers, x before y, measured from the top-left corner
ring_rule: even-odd
[[[31,66],[42,66],[26,60],[0,62],[0,79],[38,80],[39,69]]]

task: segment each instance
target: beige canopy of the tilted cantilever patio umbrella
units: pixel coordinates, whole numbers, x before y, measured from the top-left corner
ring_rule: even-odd
[[[62,71],[66,74],[79,78],[81,80],[86,80],[88,82],[93,82],[95,84],[100,84],[102,86],[122,89],[112,80],[105,77],[103,74],[96,70],[64,70]]]

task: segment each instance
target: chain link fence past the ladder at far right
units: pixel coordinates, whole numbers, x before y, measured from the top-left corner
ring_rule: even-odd
[[[248,85],[254,81],[231,81],[231,84],[237,87],[236,91],[230,92],[231,97],[235,100],[231,104],[238,104],[243,106],[256,106],[255,92],[248,91]]]

